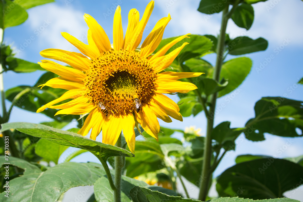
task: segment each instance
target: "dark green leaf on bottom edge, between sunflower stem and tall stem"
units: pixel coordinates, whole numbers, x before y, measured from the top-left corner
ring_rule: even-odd
[[[148,188],[134,187],[130,191],[130,196],[134,202],[194,202],[199,200],[184,199],[181,197],[168,196],[158,191],[151,191]]]

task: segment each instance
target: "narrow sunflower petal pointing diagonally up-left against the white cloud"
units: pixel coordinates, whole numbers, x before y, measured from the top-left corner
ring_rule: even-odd
[[[91,59],[95,59],[99,56],[99,53],[95,52],[93,48],[91,48],[89,45],[83,43],[82,41],[78,40],[77,38],[73,37],[72,35],[61,32],[62,37],[64,37],[66,40],[68,40],[69,43],[73,44],[78,50],[83,53],[84,55],[88,56]]]

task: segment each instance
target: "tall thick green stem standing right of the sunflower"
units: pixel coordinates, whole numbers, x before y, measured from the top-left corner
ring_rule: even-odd
[[[228,13],[228,6],[223,9],[222,13],[222,21],[221,21],[221,30],[220,36],[218,39],[217,44],[217,59],[216,65],[214,69],[213,79],[219,81],[220,73],[221,73],[221,66],[223,63],[223,54],[225,50],[225,32],[227,27],[227,17]],[[209,107],[209,114],[210,116],[207,117],[207,130],[206,130],[206,138],[205,138],[205,150],[204,150],[204,160],[202,165],[202,173],[201,173],[201,181],[200,181],[200,192],[199,192],[199,200],[205,201],[207,194],[208,194],[208,187],[211,178],[211,132],[214,126],[214,114],[215,114],[215,107],[216,107],[216,100],[217,100],[217,93],[211,95],[210,107]]]

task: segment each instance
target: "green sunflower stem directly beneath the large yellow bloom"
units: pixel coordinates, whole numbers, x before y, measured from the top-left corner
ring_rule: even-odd
[[[122,134],[120,134],[116,146],[122,147]],[[114,201],[121,202],[121,177],[122,170],[124,167],[124,160],[122,156],[115,156],[115,190],[114,190]]]

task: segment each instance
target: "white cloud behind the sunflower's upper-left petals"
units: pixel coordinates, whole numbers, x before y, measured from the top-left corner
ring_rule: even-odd
[[[60,32],[67,32],[87,43],[88,27],[83,15],[84,12],[74,10],[71,6],[59,7],[55,4],[48,4],[44,8],[30,10],[28,21],[41,50],[59,48],[77,51],[61,36]]]

